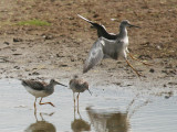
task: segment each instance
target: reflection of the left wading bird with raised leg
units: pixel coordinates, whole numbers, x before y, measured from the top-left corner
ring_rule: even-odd
[[[32,123],[30,124],[25,130],[24,132],[56,132],[56,129],[55,127],[52,124],[52,123],[49,123],[48,121],[45,121],[43,119],[43,116],[42,114],[45,114],[45,116],[52,116],[53,113],[40,113],[40,117],[41,117],[41,121],[38,120],[37,116],[35,116],[35,119],[37,119],[37,122],[35,123]]]

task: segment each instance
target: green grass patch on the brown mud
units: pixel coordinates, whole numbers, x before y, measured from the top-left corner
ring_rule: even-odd
[[[21,22],[18,22],[17,24],[18,25],[37,25],[37,26],[51,25],[51,23],[46,21],[41,21],[41,20],[21,21]]]

